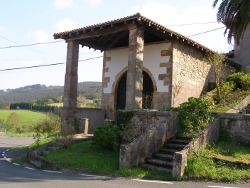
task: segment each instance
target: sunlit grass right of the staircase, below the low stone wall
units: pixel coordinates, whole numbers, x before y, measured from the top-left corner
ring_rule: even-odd
[[[188,157],[184,179],[238,182],[250,179],[250,148],[235,142],[207,145]]]

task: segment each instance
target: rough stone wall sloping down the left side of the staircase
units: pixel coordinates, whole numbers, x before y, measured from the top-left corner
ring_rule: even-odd
[[[150,118],[145,118],[147,116]],[[150,122],[145,122],[146,120]],[[131,143],[120,146],[120,168],[138,166],[145,161],[146,157],[151,157],[167,139],[177,133],[177,122],[178,116],[174,112],[135,113],[127,125],[128,133],[132,134],[134,130],[141,130],[136,129],[135,126],[141,127],[146,124],[146,127],[143,128],[142,134],[137,134]]]

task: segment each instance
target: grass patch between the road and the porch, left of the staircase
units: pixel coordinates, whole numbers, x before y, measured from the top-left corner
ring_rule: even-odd
[[[50,152],[45,155],[45,158],[55,162],[58,168],[113,176],[167,180],[166,173],[161,171],[140,167],[119,170],[119,151],[105,150],[94,145],[91,140],[73,143],[69,149],[61,148]]]

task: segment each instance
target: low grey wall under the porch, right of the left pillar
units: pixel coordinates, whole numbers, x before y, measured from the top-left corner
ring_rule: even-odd
[[[88,118],[88,133],[92,133],[97,126],[104,124],[105,110],[100,108],[77,108],[76,117],[80,119]]]

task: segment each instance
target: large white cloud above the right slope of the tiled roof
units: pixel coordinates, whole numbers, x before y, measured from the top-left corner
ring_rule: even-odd
[[[132,7],[128,12],[130,15],[139,12],[149,19],[152,19],[168,27],[169,29],[179,32],[185,36],[190,36],[223,27],[223,25],[218,23],[173,26],[190,23],[216,22],[216,10],[207,6],[192,6],[185,11],[179,11],[174,6],[170,6],[165,2],[158,3],[154,1],[148,1],[143,6]],[[223,32],[224,30],[220,29],[190,38],[213,50],[219,52],[228,51],[229,45],[226,44],[226,39],[224,38]]]

